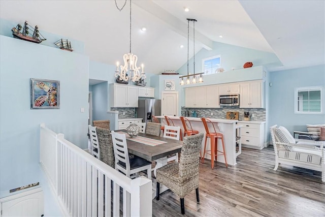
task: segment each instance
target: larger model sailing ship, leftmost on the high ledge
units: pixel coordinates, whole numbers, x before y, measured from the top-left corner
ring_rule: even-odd
[[[32,34],[29,33],[28,31],[29,29],[30,31],[32,31]],[[29,42],[34,42],[34,43],[41,43],[42,41],[46,40],[42,36],[42,34],[39,33],[39,27],[36,25],[35,28],[32,28],[30,25],[28,25],[27,21],[25,21],[23,27],[20,24],[18,24],[16,27],[13,27],[11,30],[12,30],[12,35],[16,39],[21,39]]]

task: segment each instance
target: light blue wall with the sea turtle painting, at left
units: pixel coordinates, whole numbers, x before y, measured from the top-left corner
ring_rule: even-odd
[[[87,148],[89,57],[0,37],[3,192],[40,180],[40,123]],[[60,81],[60,109],[30,109],[30,78]]]

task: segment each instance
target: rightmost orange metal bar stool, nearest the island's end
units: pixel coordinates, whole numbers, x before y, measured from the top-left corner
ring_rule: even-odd
[[[215,130],[215,127],[212,123],[211,120],[207,119],[207,118],[203,118],[201,117],[201,120],[203,122],[205,131],[206,131],[206,135],[205,135],[205,142],[204,142],[204,150],[203,150],[203,158],[202,158],[202,163],[204,163],[204,157],[205,154],[210,154],[211,155],[211,168],[213,169],[214,167],[214,160],[217,161],[217,157],[218,155],[223,155],[224,157],[224,162],[225,162],[225,166],[228,167],[227,164],[227,158],[225,156],[225,148],[224,148],[224,142],[223,142],[223,134],[222,133],[218,133]],[[211,123],[214,132],[210,133],[209,128],[208,128],[208,122]],[[208,137],[210,138],[210,145],[211,145],[211,151],[206,151],[206,146],[207,146],[207,139]],[[221,139],[221,143],[222,143],[222,151],[218,150],[218,139]],[[210,152],[210,153],[209,153]],[[220,154],[218,154],[218,152],[220,152]]]

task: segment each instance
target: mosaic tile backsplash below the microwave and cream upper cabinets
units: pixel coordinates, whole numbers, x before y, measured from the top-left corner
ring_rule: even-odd
[[[244,112],[248,111],[250,114],[250,120],[265,121],[266,120],[266,109],[262,108],[239,108],[239,106],[223,106],[221,108],[181,108],[181,115],[185,116],[185,111],[189,112],[189,116],[192,116],[192,111],[197,111],[198,117],[210,117],[210,118],[226,118],[226,112],[231,111],[239,112],[239,120],[244,119]],[[212,115],[211,115],[212,113]],[[254,117],[251,115],[254,114]]]

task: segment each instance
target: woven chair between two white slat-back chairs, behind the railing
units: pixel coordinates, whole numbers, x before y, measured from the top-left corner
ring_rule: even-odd
[[[96,133],[100,146],[100,160],[110,167],[115,168],[115,157],[111,131],[97,127]]]

